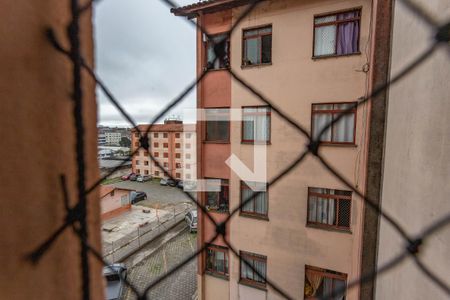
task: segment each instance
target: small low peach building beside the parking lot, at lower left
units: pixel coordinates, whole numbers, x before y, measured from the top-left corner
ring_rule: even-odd
[[[100,185],[102,220],[115,217],[131,209],[131,192],[134,190]]]

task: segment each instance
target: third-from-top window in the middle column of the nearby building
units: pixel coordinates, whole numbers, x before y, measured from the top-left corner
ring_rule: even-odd
[[[266,183],[241,181],[241,203],[258,193],[254,199],[241,207],[242,214],[267,216],[268,193],[266,187]]]

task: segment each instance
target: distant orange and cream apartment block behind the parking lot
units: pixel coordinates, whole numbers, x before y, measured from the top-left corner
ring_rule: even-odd
[[[139,125],[141,133],[147,132],[149,125]],[[131,151],[139,147],[139,133],[133,129]],[[140,149],[132,158],[134,173],[157,178],[171,177],[179,180],[196,178],[195,164],[195,124],[183,124],[179,120],[166,119],[164,124],[155,124],[148,134],[150,151],[162,169],[150,159],[147,150]]]

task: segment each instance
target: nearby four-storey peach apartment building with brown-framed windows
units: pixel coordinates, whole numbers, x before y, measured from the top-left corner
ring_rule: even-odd
[[[253,168],[263,163],[253,161],[254,148],[267,147],[267,177],[272,179],[308,143],[234,80],[228,67],[317,137],[324,124],[368,95],[380,76],[373,74],[371,60],[386,56],[371,56],[377,1],[262,1],[230,35],[249,2],[211,0],[172,10],[196,18],[213,42],[226,40],[221,44],[227,55],[216,59],[214,44],[197,32],[197,72],[210,69],[197,87],[198,108],[211,115],[242,112],[241,122],[208,119],[197,125],[198,178],[221,182],[220,192],[204,192],[199,199],[217,223],[252,194],[252,187],[267,184],[241,181],[226,164],[230,155]],[[363,193],[370,113],[370,104],[359,106],[321,136],[321,154]],[[363,264],[365,214],[361,199],[308,156],[227,223],[226,239],[263,276],[220,237],[199,256],[199,299],[282,299],[266,278],[295,299],[333,295],[373,268],[373,257]],[[198,226],[202,247],[216,229],[201,211]],[[361,293],[356,286],[345,299],[359,299]]]

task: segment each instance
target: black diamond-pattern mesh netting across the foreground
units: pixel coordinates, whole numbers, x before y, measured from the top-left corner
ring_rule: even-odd
[[[167,4],[170,8],[176,8],[177,5],[173,3],[170,0],[161,0],[165,4]],[[263,2],[263,0],[254,0],[249,1],[249,4],[243,9],[242,14],[236,18],[235,23],[232,25],[230,34],[237,28],[239,23],[252,12],[252,10],[260,3]],[[329,124],[322,129],[318,137],[322,136],[324,132],[326,132],[331,126],[336,124],[342,116],[344,116],[346,113],[354,110],[355,108],[359,107],[360,105],[363,105],[364,103],[371,101],[373,98],[375,98],[380,93],[384,92],[386,89],[389,88],[389,86],[393,85],[394,83],[398,82],[400,79],[407,76],[411,71],[416,69],[419,65],[421,65],[427,58],[429,58],[435,50],[438,48],[439,45],[448,45],[449,43],[449,37],[450,37],[450,23],[446,23],[444,25],[441,25],[437,21],[435,21],[432,17],[430,17],[423,9],[421,9],[419,6],[417,6],[414,2],[411,0],[402,0],[402,2],[410,9],[410,11],[417,17],[424,21],[424,23],[427,24],[427,26],[430,26],[434,30],[435,39],[434,42],[422,53],[420,54],[415,60],[413,60],[410,64],[406,65],[397,75],[390,78],[389,82],[386,84],[383,84],[382,86],[376,87],[373,92],[364,98],[360,98],[355,102],[355,104],[351,105],[351,107],[344,110],[342,113],[340,113],[337,117],[335,117]],[[65,49],[61,46],[61,44],[58,42],[57,38],[53,34],[53,31],[51,28],[47,31],[47,38],[49,42],[54,46],[54,48],[59,51],[61,54],[67,56],[68,59],[71,60],[73,64],[72,68],[72,75],[73,75],[73,99],[74,99],[74,110],[73,110],[73,118],[74,118],[74,124],[76,127],[76,160],[77,160],[77,167],[78,167],[78,202],[75,206],[70,207],[69,201],[67,199],[67,189],[65,184],[65,177],[61,176],[61,186],[63,189],[63,195],[65,199],[65,207],[67,210],[67,215],[64,223],[56,230],[47,240],[45,240],[33,253],[30,254],[29,259],[36,263],[39,261],[39,259],[42,257],[42,255],[45,254],[45,252],[52,246],[53,242],[57,239],[57,237],[62,234],[66,229],[72,229],[75,234],[79,237],[80,244],[81,244],[81,268],[82,268],[82,288],[83,288],[83,299],[89,299],[90,295],[90,286],[89,286],[89,264],[88,264],[88,256],[93,255],[98,260],[100,260],[105,266],[108,266],[108,262],[104,261],[103,256],[101,253],[99,253],[96,249],[91,247],[91,245],[88,243],[87,237],[87,222],[86,222],[86,199],[87,195],[91,193],[102,181],[103,179],[107,178],[109,175],[113,174],[115,171],[117,171],[123,164],[125,164],[127,161],[131,160],[133,155],[135,155],[139,149],[144,149],[148,151],[149,158],[160,168],[161,170],[164,170],[164,168],[160,165],[159,161],[155,159],[155,157],[152,155],[150,151],[150,141],[149,141],[149,132],[152,128],[152,126],[160,121],[163,116],[168,113],[173,107],[175,107],[177,104],[179,104],[183,99],[187,96],[189,92],[191,92],[196,85],[203,80],[205,75],[209,72],[209,68],[205,69],[198,78],[192,82],[188,87],[186,87],[178,97],[173,99],[159,114],[157,114],[150,122],[150,126],[146,130],[146,132],[141,132],[139,130],[139,127],[137,126],[136,122],[133,120],[133,118],[122,108],[120,105],[120,102],[114,97],[114,95],[110,92],[110,90],[107,88],[107,86],[101,81],[101,79],[96,75],[95,71],[86,64],[83,57],[80,54],[80,39],[79,39],[79,18],[80,16],[88,9],[92,7],[92,5],[95,4],[95,1],[90,1],[87,5],[80,6],[78,0],[70,0],[70,9],[72,14],[72,20],[70,24],[68,25],[68,36],[70,41],[70,48]],[[214,54],[215,54],[215,61],[211,64],[214,65],[216,61],[219,61],[220,63],[224,63],[227,61],[226,53],[223,49],[225,49],[225,44],[227,43],[226,39],[213,39],[208,32],[198,25],[196,22],[192,20],[188,20],[191,25],[194,26],[194,29],[197,28],[202,31],[202,33],[207,37],[207,40],[209,43],[213,43],[214,47]],[[83,130],[83,115],[82,115],[82,99],[83,99],[83,91],[81,88],[82,84],[82,70],[87,71],[89,76],[91,76],[95,82],[97,83],[98,87],[105,93],[107,98],[111,101],[111,103],[118,109],[118,111],[123,115],[123,117],[131,124],[131,126],[136,130],[136,132],[140,135],[140,147],[133,151],[131,155],[124,159],[122,164],[118,165],[115,169],[113,169],[109,174],[106,174],[103,178],[99,179],[93,186],[86,187],[85,186],[85,159],[84,159],[84,130]],[[301,124],[299,124],[296,120],[288,117],[282,109],[277,107],[274,101],[271,99],[268,99],[265,97],[259,90],[247,83],[244,79],[242,79],[237,73],[234,72],[234,70],[231,67],[228,67],[228,72],[230,73],[231,77],[241,84],[243,87],[245,87],[248,91],[253,93],[261,102],[264,104],[270,106],[271,111],[275,112],[277,115],[282,117],[292,128],[296,129],[300,134],[302,134],[304,137],[306,137],[309,141],[307,147],[303,150],[303,152],[299,153],[297,158],[292,161],[292,163],[286,167],[282,172],[280,172],[277,176],[269,180],[267,183],[267,187],[273,186],[280,180],[282,180],[287,174],[289,174],[292,170],[297,168],[300,163],[305,159],[305,157],[311,155],[314,156],[318,161],[321,162],[321,164],[324,166],[326,170],[328,170],[332,175],[334,175],[341,183],[343,183],[347,188],[352,190],[356,195],[358,195],[367,207],[370,209],[373,209],[381,218],[383,218],[385,221],[387,221],[404,239],[405,241],[405,248],[404,251],[393,258],[392,260],[388,261],[385,265],[379,266],[376,268],[376,270],[371,274],[363,274],[360,278],[354,281],[350,281],[347,283],[346,287],[338,289],[334,291],[335,295],[343,294],[347,290],[351,289],[352,287],[356,285],[361,285],[364,282],[371,281],[376,278],[376,276],[379,276],[382,273],[385,273],[396,266],[398,266],[405,258],[412,257],[414,262],[416,263],[416,266],[428,277],[429,280],[434,282],[437,287],[442,289],[447,295],[450,297],[450,287],[438,276],[436,276],[430,268],[428,268],[417,256],[419,253],[419,249],[421,245],[423,244],[424,240],[429,238],[431,235],[436,234],[440,229],[442,229],[444,226],[448,225],[450,223],[450,214],[447,214],[445,217],[435,220],[434,223],[432,223],[431,226],[427,228],[423,228],[421,234],[417,236],[411,236],[407,233],[407,231],[396,221],[395,216],[390,215],[388,212],[383,211],[379,208],[378,204],[373,201],[373,199],[370,199],[366,197],[362,192],[360,192],[357,188],[355,188],[344,176],[341,175],[341,173],[333,168],[326,159],[320,154],[319,149],[321,147],[321,143],[318,140],[318,138],[313,138],[310,136],[309,132],[305,127],[303,127]],[[171,177],[169,173],[166,174],[170,179],[174,179]],[[204,215],[216,226],[216,234],[215,236],[208,242],[206,242],[202,247],[199,247],[192,255],[186,257],[183,261],[181,261],[178,265],[170,269],[166,274],[163,276],[157,278],[153,282],[150,282],[146,289],[143,292],[139,292],[138,289],[133,285],[132,282],[129,282],[126,278],[122,278],[122,280],[126,283],[126,285],[136,294],[138,299],[147,299],[147,294],[150,289],[152,289],[155,285],[163,281],[167,276],[170,276],[174,272],[176,272],[178,269],[180,269],[182,266],[193,260],[196,256],[198,256],[200,253],[205,251],[208,244],[214,242],[219,236],[223,237],[223,240],[225,241],[225,244],[229,247],[231,250],[231,253],[235,255],[236,257],[240,258],[241,264],[244,263],[248,269],[250,269],[252,272],[254,272],[255,276],[258,278],[264,279],[265,283],[270,286],[276,293],[281,295],[284,298],[287,299],[294,299],[293,295],[288,290],[284,290],[278,286],[278,284],[270,279],[270,276],[266,276],[266,274],[262,274],[260,268],[255,268],[252,264],[248,263],[248,259],[245,257],[241,257],[241,253],[239,250],[237,250],[236,247],[234,247],[230,241],[226,239],[226,224],[230,221],[230,219],[247,203],[251,202],[255,199],[255,197],[258,196],[261,192],[255,192],[252,193],[247,199],[243,199],[239,206],[234,207],[230,210],[229,216],[225,219],[224,222],[217,223],[213,217],[208,213],[208,210],[205,208],[204,205],[202,205],[199,201],[196,200],[195,197],[189,192],[184,191],[186,193],[187,197],[195,203],[195,205],[198,207],[198,209],[202,210]],[[346,212],[345,212],[345,205],[342,210],[342,218],[345,219]],[[121,275],[122,276],[122,275]]]

